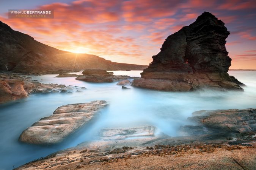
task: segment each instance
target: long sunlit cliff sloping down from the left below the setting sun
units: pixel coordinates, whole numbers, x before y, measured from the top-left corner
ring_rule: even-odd
[[[18,73],[64,73],[88,68],[143,70],[147,66],[116,63],[90,54],[75,54],[47,46],[14,31],[0,21],[0,70]]]

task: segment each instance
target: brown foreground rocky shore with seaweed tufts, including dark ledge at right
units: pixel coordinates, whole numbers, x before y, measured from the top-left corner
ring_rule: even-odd
[[[198,122],[197,126],[201,129],[207,127],[218,131],[204,130],[206,131],[204,134],[181,137],[157,135],[154,131],[148,131],[153,135],[152,137],[120,140],[111,136],[122,134],[127,130],[124,129],[123,132],[121,129],[111,130],[110,134],[108,130],[103,130],[101,136],[112,140],[84,142],[77,147],[58,151],[17,169],[185,169],[185,167],[254,169],[256,167],[255,117],[256,109],[197,111],[189,118],[190,120]],[[211,120],[209,123],[206,121],[208,119]],[[241,121],[241,124],[237,124],[234,120]],[[232,122],[227,123],[227,121]],[[250,124],[250,128],[237,131],[236,128],[230,128],[230,124],[237,129],[240,129],[242,124]],[[186,132],[188,129],[194,130],[181,127],[181,130]]]

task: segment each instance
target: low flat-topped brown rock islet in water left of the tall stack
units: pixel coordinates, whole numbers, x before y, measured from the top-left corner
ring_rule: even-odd
[[[87,69],[83,71],[82,76],[75,78],[76,80],[83,80],[85,82],[94,83],[111,83],[119,80],[130,79],[129,76],[115,76],[108,73],[106,70]]]

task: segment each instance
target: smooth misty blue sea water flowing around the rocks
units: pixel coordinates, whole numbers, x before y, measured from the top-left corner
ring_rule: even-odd
[[[141,71],[114,71],[115,75],[140,76]],[[256,72],[230,71],[245,83],[245,91],[162,92],[130,87],[122,90],[116,83],[87,83],[75,77],[54,78],[56,75],[34,76],[42,83],[58,83],[86,87],[82,93],[33,94],[0,106],[0,170],[9,170],[33,159],[44,157],[58,150],[97,139],[97,132],[106,127],[155,125],[159,132],[177,136],[177,128],[190,124],[187,117],[196,110],[255,108]],[[75,92],[75,91],[73,91]],[[65,104],[107,100],[109,106],[92,124],[81,128],[61,144],[38,146],[18,141],[27,127]]]

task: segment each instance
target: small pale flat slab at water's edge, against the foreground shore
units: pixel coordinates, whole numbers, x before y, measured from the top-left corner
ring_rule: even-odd
[[[151,125],[130,128],[107,128],[102,129],[99,132],[99,136],[104,140],[121,140],[134,137],[154,136],[155,129],[156,128]]]

